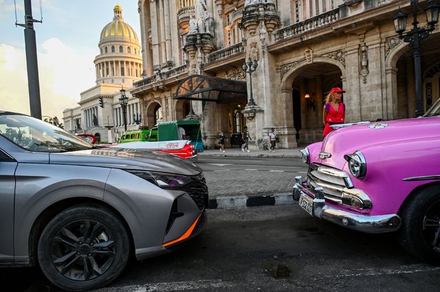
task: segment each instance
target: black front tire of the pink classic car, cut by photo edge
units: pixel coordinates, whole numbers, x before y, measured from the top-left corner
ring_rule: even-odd
[[[404,205],[401,218],[401,246],[412,256],[440,265],[440,187],[419,190]]]

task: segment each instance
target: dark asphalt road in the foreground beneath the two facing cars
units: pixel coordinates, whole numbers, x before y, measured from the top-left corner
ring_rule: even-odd
[[[130,263],[95,292],[439,291],[440,267],[408,256],[393,234],[344,229],[298,205],[208,213],[209,225],[196,240]],[[14,276],[0,269],[2,291],[23,292],[11,285],[30,278],[36,285],[26,292],[59,292],[31,271]]]

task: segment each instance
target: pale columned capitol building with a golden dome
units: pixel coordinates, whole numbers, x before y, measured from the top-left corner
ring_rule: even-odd
[[[138,36],[125,23],[121,6],[114,7],[113,21],[105,25],[94,60],[96,86],[81,93],[79,106],[63,111],[65,129],[71,133],[92,133],[100,142],[115,142],[127,129],[137,128],[140,100],[129,93],[134,82],[143,79],[143,62]],[[121,89],[128,98],[124,120],[119,102]],[[99,100],[102,100],[103,107]]]

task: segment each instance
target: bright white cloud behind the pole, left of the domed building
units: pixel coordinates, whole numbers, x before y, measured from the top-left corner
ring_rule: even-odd
[[[77,54],[74,49],[50,38],[38,52],[41,113],[63,117],[63,110],[78,106],[80,93],[93,87],[94,56]],[[25,52],[0,45],[0,100],[7,111],[30,114]]]

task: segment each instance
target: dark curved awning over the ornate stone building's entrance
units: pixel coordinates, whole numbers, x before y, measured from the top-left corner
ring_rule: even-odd
[[[182,80],[176,90],[176,100],[231,102],[247,100],[246,81],[191,75]]]

